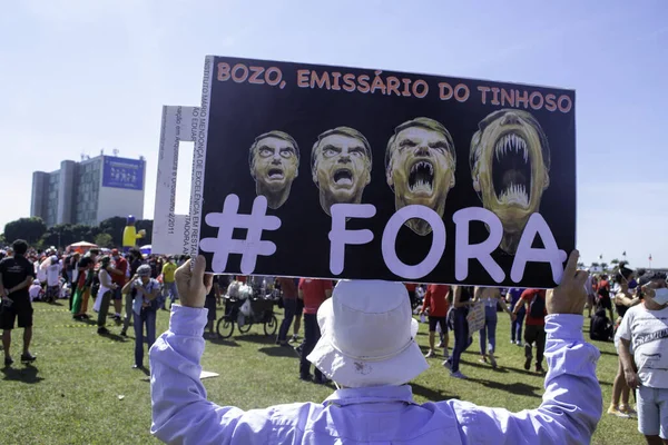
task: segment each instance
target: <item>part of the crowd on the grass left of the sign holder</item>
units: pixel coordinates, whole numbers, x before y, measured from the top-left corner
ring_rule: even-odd
[[[138,249],[125,254],[99,248],[85,253],[59,251],[55,247],[38,250],[29,248],[23,240],[14,241],[11,247],[0,250],[0,290],[3,294],[0,329],[3,332],[4,366],[13,364],[11,330],[17,322],[18,327],[23,328],[21,362],[36,359],[30,353],[31,303],[53,304],[67,299],[73,320],[97,318],[99,335],[111,335],[108,318],[124,337],[128,336],[131,324],[135,332],[132,367],[145,368],[145,343],[150,348],[156,339],[157,312],[168,310],[168,306],[178,299],[175,271],[186,259],[184,256],[146,256]],[[89,307],[91,299],[95,303]],[[110,307],[114,308],[111,316]]]

